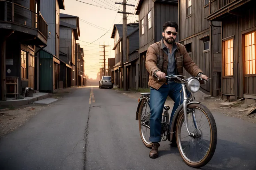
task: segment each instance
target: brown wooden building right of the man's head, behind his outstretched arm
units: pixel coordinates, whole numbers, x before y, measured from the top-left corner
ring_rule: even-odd
[[[208,0],[179,0],[179,43],[199,68],[211,78],[200,90],[218,96],[221,92],[221,23],[209,23]],[[184,75],[191,77],[184,69]]]

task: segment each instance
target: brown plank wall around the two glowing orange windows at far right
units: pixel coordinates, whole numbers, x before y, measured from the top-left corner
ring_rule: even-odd
[[[223,38],[234,35],[234,78],[223,79],[223,93],[237,93],[239,98],[243,97],[244,93],[256,95],[256,75],[250,77],[245,76],[243,72],[244,54],[243,44],[244,41],[242,34],[256,30],[256,7],[253,2],[248,3],[239,9],[242,11],[241,17],[227,17],[223,20]],[[235,83],[237,82],[237,83]],[[230,89],[230,87],[232,87]]]

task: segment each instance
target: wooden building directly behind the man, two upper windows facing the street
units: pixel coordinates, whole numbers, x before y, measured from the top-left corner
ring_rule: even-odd
[[[178,23],[178,0],[139,0],[135,14],[139,15],[139,87],[148,88],[149,73],[145,68],[147,48],[161,41],[165,22]]]

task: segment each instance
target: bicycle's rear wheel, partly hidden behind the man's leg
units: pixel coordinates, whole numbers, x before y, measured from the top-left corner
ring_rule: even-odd
[[[150,106],[149,103],[142,99],[141,106],[138,113],[139,121],[139,135],[141,136],[142,142],[146,147],[151,148],[152,142],[150,142]]]

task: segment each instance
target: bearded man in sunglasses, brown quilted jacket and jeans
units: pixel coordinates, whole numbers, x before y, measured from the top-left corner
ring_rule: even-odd
[[[152,44],[147,49],[145,66],[150,74],[148,83],[151,89],[150,141],[153,143],[152,150],[149,153],[150,158],[158,157],[158,147],[160,146],[158,142],[161,141],[161,117],[167,96],[175,102],[171,118],[179,107],[182,86],[173,80],[167,80],[165,76],[170,74],[183,75],[184,67],[192,76],[208,80],[208,77],[192,61],[185,46],[175,42],[177,31],[177,23],[173,21],[166,22],[163,24],[162,40]],[[181,96],[182,103],[183,94]]]

